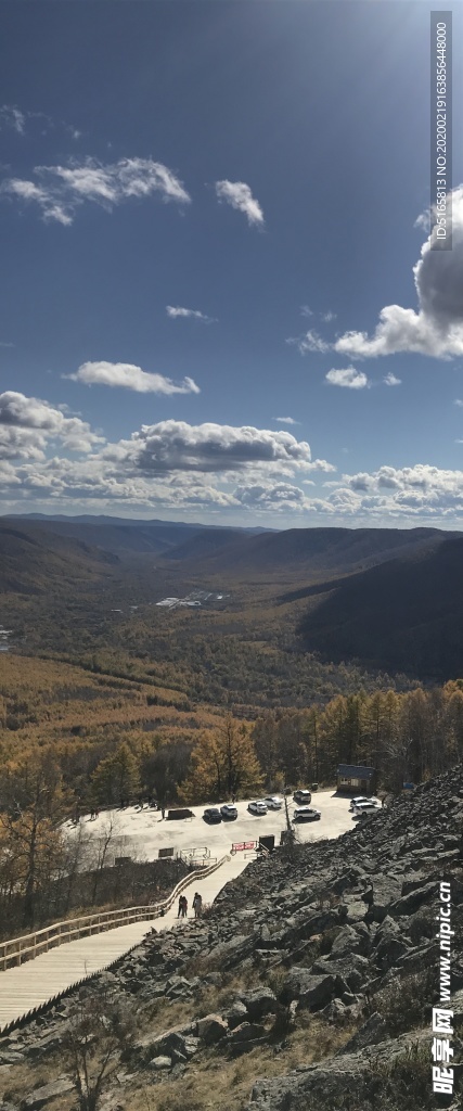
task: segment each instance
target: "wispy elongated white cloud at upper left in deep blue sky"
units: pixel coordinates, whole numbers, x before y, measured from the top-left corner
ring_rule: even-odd
[[[34,173],[37,181],[6,179],[0,187],[1,193],[36,202],[43,220],[62,224],[72,223],[77,209],[85,201],[111,211],[131,198],[155,193],[163,201],[185,204],[191,200],[175,174],[151,158],[122,158],[112,164],[92,158],[80,163],[73,159],[67,167],[37,166]]]

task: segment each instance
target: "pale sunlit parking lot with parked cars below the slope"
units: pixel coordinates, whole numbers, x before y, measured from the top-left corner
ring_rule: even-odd
[[[82,818],[85,833],[95,840],[105,835],[109,821],[114,823],[111,838],[108,863],[113,863],[114,857],[130,855],[139,860],[157,860],[160,849],[173,849],[174,852],[190,853],[197,850],[208,850],[211,858],[229,853],[233,843],[259,840],[261,834],[273,833],[275,845],[280,844],[280,833],[286,828],[284,805],[281,810],[269,810],[262,817],[255,817],[248,810],[249,799],[236,803],[238,818],[234,821],[222,821],[209,825],[203,821],[203,812],[208,805],[191,807],[193,817],[180,820],[162,820],[157,810],[140,810],[139,807],[127,807],[125,810],[102,811],[95,820],[89,814]],[[295,803],[288,799],[290,819]],[[350,799],[338,795],[334,789],[318,791],[312,795],[311,805],[321,811],[320,821],[301,822],[296,824],[300,841],[318,841],[320,838],[336,838],[355,827],[355,821],[349,810]],[[168,811],[167,811],[168,813]],[[68,827],[69,835],[76,835],[76,828]]]

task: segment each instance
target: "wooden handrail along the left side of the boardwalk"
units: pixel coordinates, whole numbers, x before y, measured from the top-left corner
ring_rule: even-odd
[[[160,903],[148,903],[143,907],[124,907],[118,910],[100,911],[95,914],[83,914],[81,918],[70,918],[64,922],[53,922],[33,933],[24,933],[20,938],[11,938],[8,941],[0,941],[0,968],[4,971],[9,963],[20,964],[21,960],[32,955],[37,957],[43,949],[62,944],[63,941],[71,941],[73,938],[81,938],[85,933],[101,933],[103,930],[115,929],[117,925],[130,925],[140,920],[149,921],[159,918],[167,910],[170,910],[177,897],[187,888],[198,872],[201,878],[209,875],[220,868],[228,857],[221,857],[209,864],[208,868],[200,865],[184,875],[174,887],[170,895]],[[38,940],[39,939],[39,940]],[[24,944],[26,942],[26,944]],[[30,942],[30,944],[28,944]],[[12,947],[12,948],[10,948]]]

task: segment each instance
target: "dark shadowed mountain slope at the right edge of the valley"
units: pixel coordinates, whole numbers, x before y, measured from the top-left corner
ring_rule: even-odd
[[[463,538],[405,550],[393,560],[312,588],[300,623],[306,650],[332,661],[404,670],[421,679],[463,674]]]

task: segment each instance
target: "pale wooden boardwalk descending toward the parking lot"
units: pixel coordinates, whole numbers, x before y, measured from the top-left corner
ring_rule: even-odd
[[[189,902],[188,918],[192,917],[192,901],[195,891],[202,894],[203,904],[213,902],[219,891],[230,880],[239,875],[249,860],[236,854],[218,868],[211,875],[201,879],[193,875],[184,888]],[[172,907],[164,918],[152,922],[135,922],[121,925],[104,933],[94,933],[78,941],[69,941],[36,957],[16,968],[0,972],[0,1031],[10,1022],[20,1019],[34,1007],[53,999],[67,988],[79,983],[84,977],[100,972],[113,961],[138,945],[152,929],[157,931],[181,929],[184,920],[178,920],[178,908]]]

